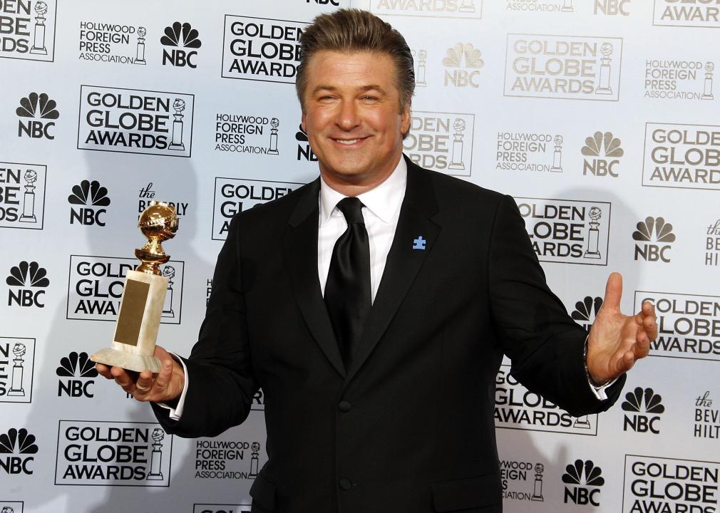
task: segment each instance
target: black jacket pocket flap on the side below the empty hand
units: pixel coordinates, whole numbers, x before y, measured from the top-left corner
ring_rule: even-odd
[[[495,474],[434,483],[433,506],[438,513],[499,504],[502,499],[500,477]]]

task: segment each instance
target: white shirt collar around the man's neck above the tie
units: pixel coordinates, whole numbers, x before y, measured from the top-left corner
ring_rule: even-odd
[[[360,194],[358,199],[382,222],[390,223],[400,210],[408,183],[408,164],[400,157],[395,171],[374,189]],[[320,176],[320,226],[323,226],[333,214],[338,201],[346,196],[331,188]],[[342,215],[342,214],[339,214]]]

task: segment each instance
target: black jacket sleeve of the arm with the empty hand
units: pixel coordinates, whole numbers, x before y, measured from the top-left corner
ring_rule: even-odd
[[[516,202],[504,196],[490,235],[490,308],[511,373],[576,417],[613,405],[625,376],[598,400],[590,390],[583,350],[588,333],[550,291]]]

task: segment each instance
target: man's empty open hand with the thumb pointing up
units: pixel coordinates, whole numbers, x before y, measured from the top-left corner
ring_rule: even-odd
[[[635,362],[645,358],[650,341],[657,337],[655,307],[645,301],[634,316],[620,312],[623,277],[611,273],[605,287],[605,299],[588,338],[586,362],[595,383],[606,383],[629,371]]]

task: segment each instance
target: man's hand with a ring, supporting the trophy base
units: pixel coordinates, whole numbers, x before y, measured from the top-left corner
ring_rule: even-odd
[[[155,346],[154,355],[160,359],[162,365],[157,374],[150,371],[126,371],[124,368],[108,367],[102,363],[96,363],[95,368],[104,378],[114,379],[115,383],[138,401],[172,402],[182,393],[185,373],[170,353],[159,345]]]

